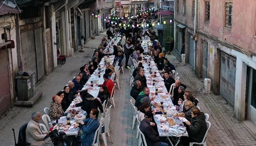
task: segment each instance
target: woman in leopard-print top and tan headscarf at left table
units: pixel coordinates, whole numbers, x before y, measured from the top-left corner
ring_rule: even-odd
[[[64,97],[64,93],[63,93],[63,97]],[[50,110],[49,110],[49,116],[50,116],[50,119],[51,120],[57,120],[59,119],[64,111],[61,107],[61,101],[62,101],[62,98],[58,95],[54,95],[52,97],[52,102],[50,104]]]

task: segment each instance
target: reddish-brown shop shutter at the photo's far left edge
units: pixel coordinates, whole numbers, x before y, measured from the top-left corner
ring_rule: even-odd
[[[0,50],[0,75],[0,116],[2,116],[9,108],[11,108],[7,50]]]

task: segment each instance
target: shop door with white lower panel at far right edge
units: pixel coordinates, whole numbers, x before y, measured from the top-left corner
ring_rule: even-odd
[[[249,72],[249,73],[248,73]],[[256,70],[247,69],[247,96],[249,99],[249,120],[256,125]]]

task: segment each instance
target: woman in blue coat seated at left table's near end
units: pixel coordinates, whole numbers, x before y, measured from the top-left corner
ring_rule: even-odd
[[[80,137],[74,138],[72,145],[73,146],[78,146],[78,141],[82,140],[81,146],[92,146],[93,145],[93,137],[95,134],[95,131],[98,129],[100,126],[100,123],[98,121],[98,115],[99,111],[97,109],[91,109],[89,115],[89,118],[86,118],[83,121],[80,121],[79,124],[76,124],[74,128],[79,127],[80,130],[83,131],[83,134],[80,135]]]

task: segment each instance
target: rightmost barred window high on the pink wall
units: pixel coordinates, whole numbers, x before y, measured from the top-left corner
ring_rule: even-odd
[[[231,4],[231,7],[230,7]],[[230,10],[231,8],[231,10]],[[225,17],[224,17],[224,28],[232,29],[232,17],[233,17],[233,2],[225,2]],[[231,12],[231,14],[229,14]],[[229,22],[230,21],[230,22]]]

